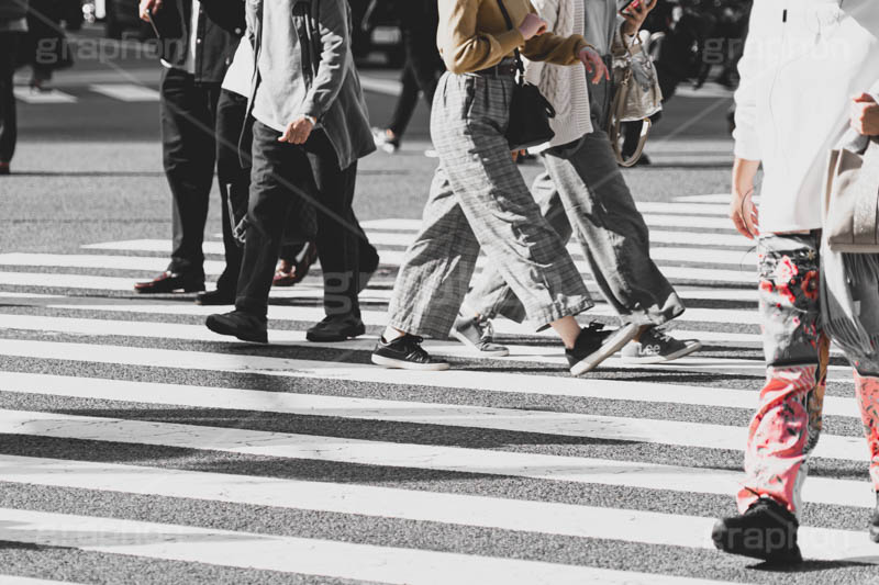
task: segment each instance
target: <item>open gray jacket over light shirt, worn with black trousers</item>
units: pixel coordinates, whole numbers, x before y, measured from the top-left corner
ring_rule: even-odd
[[[254,116],[283,132],[300,115],[318,120],[345,169],[376,149],[351,50],[346,0],[247,0],[257,74]]]

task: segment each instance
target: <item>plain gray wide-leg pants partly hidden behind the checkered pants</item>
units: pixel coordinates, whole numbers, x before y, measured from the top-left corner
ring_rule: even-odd
[[[608,134],[594,117],[593,125],[592,134],[543,154],[546,172],[534,181],[534,196],[563,241],[577,235],[596,282],[622,320],[661,325],[683,313],[683,304],[650,259],[647,225]],[[498,270],[483,273],[465,303],[488,317],[526,318]]]

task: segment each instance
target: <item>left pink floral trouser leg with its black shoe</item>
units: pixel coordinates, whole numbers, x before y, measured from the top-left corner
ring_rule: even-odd
[[[800,490],[821,435],[830,359],[819,241],[812,235],[768,236],[759,256],[766,384],[748,427],[741,516],[720,520],[713,538],[726,552],[797,561]]]

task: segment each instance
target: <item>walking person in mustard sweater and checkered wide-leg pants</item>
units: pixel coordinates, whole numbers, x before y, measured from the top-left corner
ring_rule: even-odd
[[[510,120],[515,49],[532,60],[581,61],[593,81],[608,76],[607,67],[581,35],[547,33],[527,0],[439,0],[438,5],[437,44],[448,69],[431,116],[439,167],[372,361],[416,370],[449,367],[421,347],[422,336],[448,335],[481,247],[534,324],[558,333],[571,373],[579,375],[619,349],[635,328],[611,333],[577,324],[574,316],[592,302],[510,156],[504,128],[516,122]]]

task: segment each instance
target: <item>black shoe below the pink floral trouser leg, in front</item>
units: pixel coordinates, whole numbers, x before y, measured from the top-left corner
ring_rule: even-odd
[[[714,524],[714,545],[731,554],[761,559],[770,563],[800,563],[797,544],[800,522],[785,506],[761,497],[741,516],[723,518]]]

